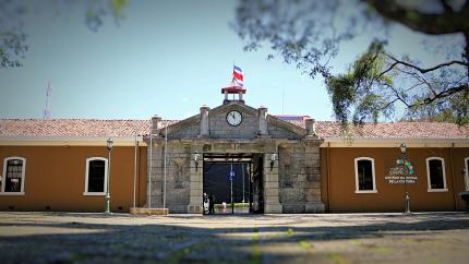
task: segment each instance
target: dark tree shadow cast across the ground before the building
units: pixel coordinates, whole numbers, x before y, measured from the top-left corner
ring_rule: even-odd
[[[400,215],[381,216],[376,223],[373,216],[350,225],[347,216],[326,218],[309,217],[311,226],[301,226],[304,219],[281,225],[237,225],[224,227],[224,216],[188,218],[171,216],[164,224],[108,225],[106,217],[98,215],[99,224],[80,221],[88,214],[60,214],[72,216],[70,223],[2,223],[0,228],[13,230],[0,236],[2,263],[265,263],[268,260],[288,262],[311,251],[308,244],[321,241],[380,239],[385,236],[412,238],[421,232],[426,235],[448,230],[469,229],[469,218],[459,214],[426,214],[411,216],[402,221]],[[128,215],[122,217],[133,218]],[[267,218],[266,218],[267,217]],[[237,216],[236,221],[274,219],[276,216]],[[175,221],[171,223],[171,218]],[[207,221],[203,227],[181,225],[181,219]],[[148,218],[145,218],[148,219]],[[399,219],[397,221],[396,219]],[[315,226],[315,220],[330,221],[330,225]],[[221,226],[220,226],[221,223]],[[212,225],[211,225],[212,224]],[[43,229],[41,235],[15,233],[14,230]],[[60,230],[63,233],[55,233]],[[296,247],[291,252],[263,251],[269,245]],[[285,249],[285,248],[284,248]],[[296,253],[297,252],[297,253]],[[329,254],[330,256],[330,254]],[[267,261],[266,261],[267,260]],[[330,263],[340,259],[328,259]]]

